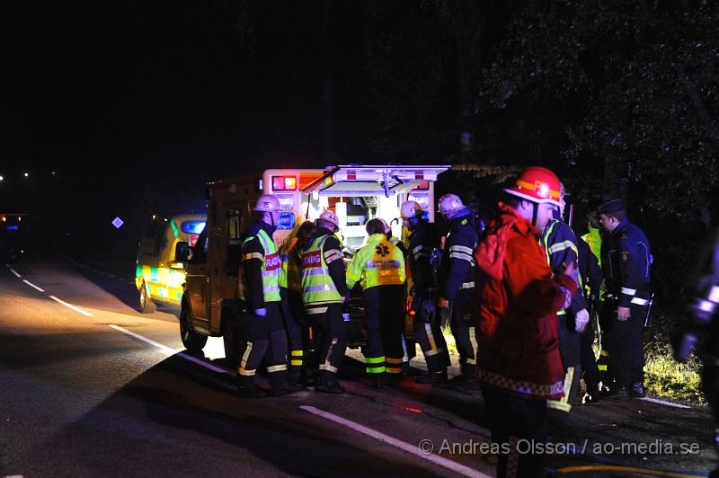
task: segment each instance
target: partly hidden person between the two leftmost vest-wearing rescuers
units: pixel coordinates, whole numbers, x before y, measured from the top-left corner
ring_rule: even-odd
[[[309,238],[315,232],[315,223],[304,221],[297,226],[282,248],[280,296],[283,299],[285,325],[289,345],[289,379],[302,385],[313,385],[307,374],[306,354],[309,350],[309,325],[302,302],[302,254]]]

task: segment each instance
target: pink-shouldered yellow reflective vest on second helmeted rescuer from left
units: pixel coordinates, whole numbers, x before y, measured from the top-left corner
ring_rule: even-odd
[[[302,253],[302,301],[305,305],[342,303],[322,252],[328,237],[317,237]]]

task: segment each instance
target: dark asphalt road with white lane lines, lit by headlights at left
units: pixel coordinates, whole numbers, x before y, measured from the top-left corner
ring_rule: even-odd
[[[345,394],[239,399],[221,340],[188,355],[172,311],[133,308],[132,270],[59,254],[0,267],[0,476],[493,475],[479,391],[374,390],[350,351]],[[550,472],[716,460],[706,408],[604,401],[572,420],[552,429]]]

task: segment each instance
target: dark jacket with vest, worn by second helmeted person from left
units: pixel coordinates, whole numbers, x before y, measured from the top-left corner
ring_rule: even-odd
[[[325,247],[328,242],[330,247]],[[338,288],[330,275],[330,264],[343,261],[337,245],[339,241],[333,235],[319,235],[302,253],[302,300],[308,314],[326,311],[322,305],[342,303],[344,284]]]

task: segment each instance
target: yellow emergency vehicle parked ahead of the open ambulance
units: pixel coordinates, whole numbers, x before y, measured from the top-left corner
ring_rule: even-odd
[[[156,303],[179,306],[190,247],[205,228],[205,216],[154,216],[138,247],[135,285],[139,310],[155,312]]]

